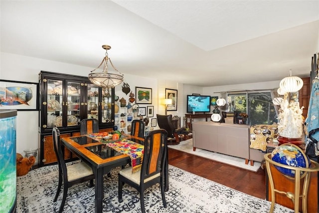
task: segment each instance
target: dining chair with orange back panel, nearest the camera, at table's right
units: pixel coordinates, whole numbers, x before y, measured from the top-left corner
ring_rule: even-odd
[[[164,129],[150,131],[144,141],[144,156],[141,171],[132,174],[132,167],[122,169],[119,173],[119,202],[122,203],[124,183],[137,189],[140,193],[142,213],[145,213],[144,191],[160,183],[161,198],[166,208],[164,192],[164,165],[167,154],[167,132]]]

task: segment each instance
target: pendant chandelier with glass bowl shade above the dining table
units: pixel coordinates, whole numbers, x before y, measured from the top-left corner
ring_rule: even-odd
[[[102,48],[106,50],[105,57],[101,64],[91,71],[88,78],[92,83],[99,87],[115,87],[123,82],[124,75],[114,67],[111,58],[108,57],[108,50],[111,49],[111,46],[102,45]],[[108,60],[110,60],[110,63],[116,72],[110,73],[108,71]]]

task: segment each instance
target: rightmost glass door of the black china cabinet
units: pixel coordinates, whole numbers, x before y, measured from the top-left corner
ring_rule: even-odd
[[[112,122],[112,90],[109,88],[102,88],[102,123]]]

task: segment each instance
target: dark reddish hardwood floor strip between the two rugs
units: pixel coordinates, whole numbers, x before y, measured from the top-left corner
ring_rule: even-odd
[[[266,199],[266,171],[251,172],[168,148],[168,164],[234,190]]]

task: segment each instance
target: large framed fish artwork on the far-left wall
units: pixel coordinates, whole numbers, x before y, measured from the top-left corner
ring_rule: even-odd
[[[37,94],[39,94],[38,83],[0,79],[1,109],[39,110],[39,97]]]

